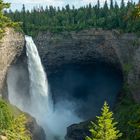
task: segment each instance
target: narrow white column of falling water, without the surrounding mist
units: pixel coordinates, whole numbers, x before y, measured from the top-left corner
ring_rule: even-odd
[[[49,89],[46,74],[44,72],[39,53],[36,45],[31,37],[26,36],[26,48],[28,57],[28,70],[30,76],[30,95],[32,103],[35,102],[38,110],[42,110],[44,105],[46,106],[44,111],[49,110]],[[34,103],[32,104],[34,105]],[[35,106],[34,106],[35,107]]]

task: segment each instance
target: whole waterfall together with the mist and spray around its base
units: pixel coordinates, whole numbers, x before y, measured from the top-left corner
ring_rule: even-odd
[[[74,113],[74,104],[62,101],[53,111],[47,76],[44,72],[36,45],[29,36],[26,39],[26,54],[30,80],[30,97],[23,96],[18,89],[19,77],[23,70],[11,67],[7,76],[8,96],[10,102],[22,111],[33,116],[44,129],[47,140],[64,139],[66,128],[81,121]]]

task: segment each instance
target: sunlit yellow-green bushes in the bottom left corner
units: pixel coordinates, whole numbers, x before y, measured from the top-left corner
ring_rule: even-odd
[[[9,105],[0,99],[0,135],[6,136],[8,140],[30,140],[26,122],[24,114],[15,117]]]

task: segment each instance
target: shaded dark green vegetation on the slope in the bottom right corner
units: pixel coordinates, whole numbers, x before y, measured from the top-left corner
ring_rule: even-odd
[[[114,117],[119,122],[118,128],[123,133],[120,140],[140,139],[140,104],[133,100],[131,90],[133,87],[125,84],[114,111]]]

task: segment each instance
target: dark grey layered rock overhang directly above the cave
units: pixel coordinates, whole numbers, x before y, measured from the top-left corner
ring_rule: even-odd
[[[61,34],[41,33],[35,38],[47,72],[69,63],[92,63],[96,59],[119,64],[112,32],[84,30]]]

